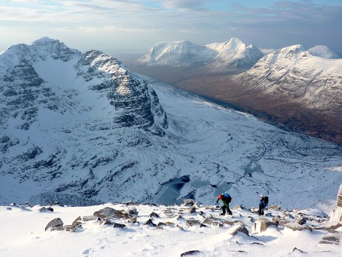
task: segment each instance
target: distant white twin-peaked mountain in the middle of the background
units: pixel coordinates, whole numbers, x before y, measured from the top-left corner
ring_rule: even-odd
[[[264,54],[254,45],[246,46],[238,38],[223,43],[196,45],[189,41],[160,42],[137,59],[148,66],[204,66],[207,71],[245,70]]]

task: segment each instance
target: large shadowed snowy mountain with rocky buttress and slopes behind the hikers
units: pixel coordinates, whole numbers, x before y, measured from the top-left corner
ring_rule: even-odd
[[[43,38],[0,56],[0,204],[329,206],[342,149]],[[289,192],[289,188],[291,191]]]

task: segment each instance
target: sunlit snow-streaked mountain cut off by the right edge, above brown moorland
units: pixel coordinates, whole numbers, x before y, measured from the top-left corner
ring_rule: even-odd
[[[309,109],[341,117],[342,59],[327,47],[306,51],[302,45],[278,49],[252,69],[233,77],[235,83]]]

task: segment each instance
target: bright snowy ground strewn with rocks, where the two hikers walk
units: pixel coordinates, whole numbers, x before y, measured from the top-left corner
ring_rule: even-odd
[[[221,216],[219,208],[200,204],[51,207],[53,212],[40,211],[42,206],[0,206],[0,256],[182,256],[189,251],[196,251],[195,256],[341,256],[342,252],[342,227],[328,231],[327,215],[314,209],[267,210],[264,219],[287,224],[270,223],[259,232],[259,215],[246,208],[236,207],[233,216]],[[111,217],[104,224],[104,217],[93,216],[111,208],[124,218]],[[74,223],[77,217],[81,220]],[[74,223],[75,232],[45,231],[56,218],[64,226]],[[306,223],[299,225],[300,220]]]

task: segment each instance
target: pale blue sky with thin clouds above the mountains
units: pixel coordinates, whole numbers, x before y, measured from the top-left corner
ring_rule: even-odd
[[[327,45],[342,56],[342,1],[0,0],[0,51],[44,36],[108,54],[239,38],[263,49]]]

